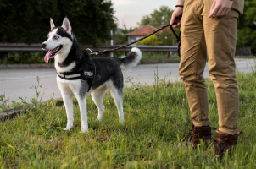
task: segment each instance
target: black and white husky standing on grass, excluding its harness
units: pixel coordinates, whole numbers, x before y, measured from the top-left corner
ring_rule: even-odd
[[[91,58],[95,65],[92,87],[84,79],[63,79],[60,74],[81,71],[85,65],[85,57],[75,35],[72,33],[70,21],[64,18],[63,25],[56,27],[53,19],[50,19],[51,30],[47,41],[42,43],[42,49],[47,50],[44,58],[48,63],[50,58],[55,59],[54,66],[57,71],[58,88],[64,100],[67,114],[67,126],[64,130],[70,130],[73,126],[73,96],[78,101],[81,112],[81,132],[88,131],[86,94],[92,94],[92,100],[97,106],[97,120],[101,121],[104,112],[103,96],[109,90],[117,106],[120,123],[124,122],[123,89],[124,79],[121,70],[133,68],[140,62],[142,52],[134,47],[125,58]],[[90,90],[89,90],[90,89]],[[89,91],[88,91],[89,90]]]

